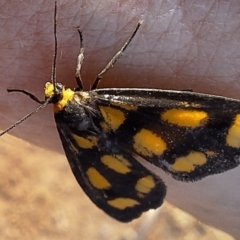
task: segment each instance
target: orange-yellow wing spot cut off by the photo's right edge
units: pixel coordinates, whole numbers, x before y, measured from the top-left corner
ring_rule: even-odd
[[[229,128],[226,142],[230,147],[240,148],[240,114],[237,114]]]

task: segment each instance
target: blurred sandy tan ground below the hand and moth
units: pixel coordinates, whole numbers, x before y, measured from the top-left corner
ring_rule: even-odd
[[[119,223],[85,196],[64,155],[5,135],[0,141],[0,238],[232,240],[165,203]]]

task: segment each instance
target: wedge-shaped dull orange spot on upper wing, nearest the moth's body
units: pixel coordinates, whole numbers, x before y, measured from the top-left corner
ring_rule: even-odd
[[[117,130],[126,119],[124,113],[119,109],[100,106],[100,111],[105,122],[113,131]]]

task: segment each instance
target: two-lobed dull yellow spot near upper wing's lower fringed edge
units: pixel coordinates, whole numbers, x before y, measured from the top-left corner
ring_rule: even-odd
[[[196,167],[202,166],[207,162],[206,156],[201,152],[190,152],[187,156],[175,159],[172,168],[176,172],[192,172]]]

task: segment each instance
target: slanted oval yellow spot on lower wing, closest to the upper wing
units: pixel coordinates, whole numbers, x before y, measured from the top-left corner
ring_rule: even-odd
[[[101,157],[101,161],[115,172],[121,174],[131,172],[131,169],[129,168],[131,164],[121,155],[104,155]]]

